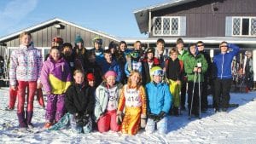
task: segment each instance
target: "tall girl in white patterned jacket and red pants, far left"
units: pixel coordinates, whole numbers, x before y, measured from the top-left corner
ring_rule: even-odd
[[[20,47],[15,49],[10,56],[9,85],[17,91],[17,115],[20,128],[33,127],[33,100],[38,86],[38,78],[42,68],[41,52],[33,47],[32,35],[29,32],[20,34]],[[28,95],[26,97],[26,89]],[[24,110],[25,100],[27,103]]]

